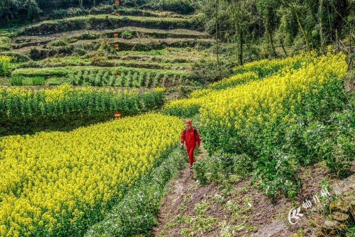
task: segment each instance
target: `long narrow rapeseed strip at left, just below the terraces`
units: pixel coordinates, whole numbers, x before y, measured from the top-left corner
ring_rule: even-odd
[[[64,84],[52,89],[0,88],[0,116],[8,118],[64,116],[80,112],[88,116],[118,110],[125,114],[148,111],[164,102],[165,89],[143,93],[138,89],[115,91]]]

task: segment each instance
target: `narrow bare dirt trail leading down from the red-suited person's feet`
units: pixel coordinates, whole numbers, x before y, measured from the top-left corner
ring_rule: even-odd
[[[204,156],[207,156],[207,151],[204,149],[203,143],[201,143],[199,153],[195,156],[194,160],[199,160]],[[185,196],[189,193],[188,191],[197,185],[196,181],[192,179],[194,173],[193,169],[186,165],[185,169],[179,171],[178,178],[170,181],[168,185],[169,192],[163,198],[158,211],[157,219],[159,225],[152,230],[153,236],[158,236],[163,231],[165,225],[178,215],[178,207],[183,203],[183,199],[186,198]],[[201,194],[196,194],[196,196],[200,195]]]

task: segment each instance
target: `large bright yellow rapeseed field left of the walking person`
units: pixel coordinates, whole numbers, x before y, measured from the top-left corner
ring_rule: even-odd
[[[85,229],[152,170],[182,127],[178,118],[145,114],[1,138],[0,236]]]

